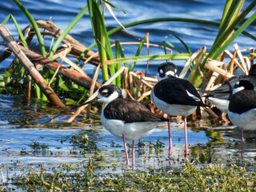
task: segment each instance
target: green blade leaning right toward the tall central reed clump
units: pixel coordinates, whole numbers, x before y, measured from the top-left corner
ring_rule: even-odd
[[[54,43],[53,48],[50,50],[49,58],[51,59],[54,56],[55,51],[58,49],[58,46],[62,43],[62,40],[66,37],[67,34],[70,33],[70,30],[77,24],[77,22],[82,18],[86,11],[88,10],[88,6],[82,8],[82,10],[77,14],[77,16],[70,22],[70,25],[66,27],[63,33],[59,36],[58,40]]]

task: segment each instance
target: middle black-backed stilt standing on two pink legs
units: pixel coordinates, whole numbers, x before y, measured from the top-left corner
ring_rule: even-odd
[[[172,63],[172,65],[174,65]],[[197,106],[207,106],[202,102],[194,86],[185,79],[176,78],[175,75],[168,75],[162,65],[158,67],[158,73],[162,75],[161,81],[157,82],[151,90],[151,101],[164,113],[173,116],[184,116],[185,132],[185,154],[188,154],[186,135],[186,116],[192,114]],[[170,72],[169,72],[170,73]],[[164,75],[167,74],[167,75]],[[168,127],[169,128],[169,127]],[[172,150],[169,128],[169,158]]]

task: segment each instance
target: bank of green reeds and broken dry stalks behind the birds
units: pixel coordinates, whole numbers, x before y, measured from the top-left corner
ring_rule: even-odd
[[[226,47],[229,46],[239,34],[245,34],[248,38],[253,40],[256,39],[253,35],[245,31],[246,27],[249,26],[251,22],[254,22],[256,18],[255,13],[250,15],[256,6],[255,1],[252,1],[244,10],[242,10],[242,0],[226,1],[222,21],[220,23],[194,18],[150,18],[122,25],[118,22],[118,18],[115,17],[112,9],[117,9],[125,13],[123,10],[118,9],[118,7],[114,6],[109,1],[88,0],[87,5],[82,8],[63,31],[58,29],[51,21],[34,21],[29,10],[26,10],[18,0],[13,1],[26,15],[26,18],[29,19],[31,25],[26,27],[23,31],[20,30],[13,15],[7,16],[2,22],[2,25],[5,25],[10,19],[13,20],[23,45],[20,46],[14,41],[10,43],[11,34],[9,34],[3,26],[0,27],[0,34],[10,47],[10,50],[13,51],[18,58],[14,59],[14,62],[10,65],[10,69],[6,71],[6,74],[3,74],[3,76],[6,83],[6,90],[10,91],[12,94],[22,94],[26,96],[28,100],[30,100],[31,96],[36,95],[38,99],[48,100],[56,106],[65,107],[63,99],[61,100],[59,98],[71,98],[74,99],[74,101],[78,101],[78,103],[84,102],[87,98],[95,97],[96,94],[93,93],[102,83],[109,84],[112,82],[122,87],[123,90],[126,90],[126,94],[130,98],[138,99],[138,101],[143,101],[148,104],[147,98],[150,95],[150,89],[154,85],[155,79],[146,77],[148,65],[146,66],[145,73],[136,73],[133,71],[138,61],[185,59],[186,64],[179,77],[184,78],[190,70],[188,80],[192,82],[194,86],[210,89],[225,80],[225,78],[230,78],[238,69],[246,73],[247,69],[244,60],[246,60],[248,66],[250,66],[250,62],[253,62],[255,58],[254,50],[251,50],[252,54],[248,55],[246,58],[242,58],[238,46],[235,46],[234,54],[230,54],[230,52],[226,50]],[[104,13],[106,10],[110,11],[110,14],[112,14],[119,25],[110,31],[106,30],[104,21]],[[240,13],[241,10],[242,12]],[[95,38],[95,42],[88,47],[82,45],[69,35],[70,30],[72,30],[85,14],[89,14],[90,16],[90,24]],[[246,18],[248,15],[250,15],[249,18]],[[113,34],[119,30],[126,30],[129,27],[150,22],[197,22],[202,25],[218,26],[218,34],[208,53],[206,52],[205,46],[194,54],[191,53],[190,48],[186,46],[186,42],[183,42],[182,39],[176,35],[172,35],[172,37],[177,38],[188,53],[182,53],[181,50],[178,50],[177,46],[174,46],[168,41],[163,41],[162,45],[150,44],[149,34],[146,34],[144,38],[138,40],[136,43],[121,43],[117,39],[114,45],[110,44],[110,35],[113,36]],[[47,30],[47,32],[40,32],[39,28]],[[24,38],[24,34],[26,34],[26,38]],[[36,54],[27,49],[34,34],[37,36],[41,54]],[[46,53],[45,45],[42,41],[42,35],[45,34],[50,34],[54,38],[57,38],[56,42],[54,42],[54,40],[51,42],[49,54]],[[127,58],[125,56],[122,47],[126,44],[138,44],[138,49],[134,53],[134,57]],[[97,46],[98,53],[91,51],[94,46]],[[165,51],[165,54],[140,55],[142,46],[146,46],[147,49],[149,49],[150,46],[158,46]],[[172,54],[172,49],[177,50],[178,54]],[[170,51],[171,54],[167,54],[167,50]],[[22,53],[26,54],[27,58],[23,57],[24,55]],[[9,57],[9,50],[4,51],[2,55],[2,58]],[[66,57],[67,55],[77,58],[76,62],[71,62],[70,59]],[[231,59],[228,66],[222,62],[226,55]],[[238,59],[236,59],[237,55]],[[218,62],[216,60],[218,60]],[[70,67],[63,66],[62,62],[68,63]],[[97,66],[93,79],[88,77],[82,70],[82,66],[87,62]],[[34,65],[36,67],[34,67]],[[98,82],[100,68],[102,69],[102,82]],[[226,68],[230,73],[225,71]],[[225,78],[222,78],[223,76]],[[86,106],[83,106],[83,108],[84,107]],[[150,106],[150,108],[154,110],[153,106]],[[72,122],[82,109],[79,109],[68,122]],[[213,114],[212,112],[207,112]]]

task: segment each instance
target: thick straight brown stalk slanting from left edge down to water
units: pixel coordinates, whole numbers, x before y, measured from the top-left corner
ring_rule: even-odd
[[[26,54],[22,52],[19,48],[18,43],[15,42],[14,38],[7,33],[6,29],[3,26],[0,26],[0,35],[2,39],[6,42],[6,45],[12,50],[18,60],[25,67],[26,71],[30,74],[30,76],[34,79],[34,82],[40,87],[40,90],[46,95],[49,101],[55,106],[65,107],[60,98],[54,93],[54,90],[47,85],[42,75],[38,72],[38,70],[34,67],[33,63],[26,57]]]

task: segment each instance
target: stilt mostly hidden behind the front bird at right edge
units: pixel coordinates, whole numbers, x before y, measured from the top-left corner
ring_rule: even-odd
[[[222,83],[222,86],[219,86],[217,89],[209,90],[200,90],[202,93],[206,93],[205,97],[210,103],[216,106],[222,112],[227,113],[230,97],[232,95],[232,90],[236,82],[240,80],[250,81],[254,85],[254,90],[256,90],[256,65],[250,67],[249,74],[238,74],[232,78],[227,79]]]

